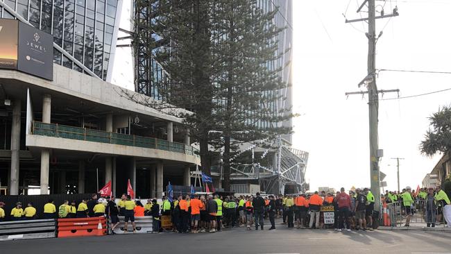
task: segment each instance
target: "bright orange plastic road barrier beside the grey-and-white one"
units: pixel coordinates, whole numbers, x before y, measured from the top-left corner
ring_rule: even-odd
[[[58,219],[58,237],[90,237],[106,235],[105,217]]]

